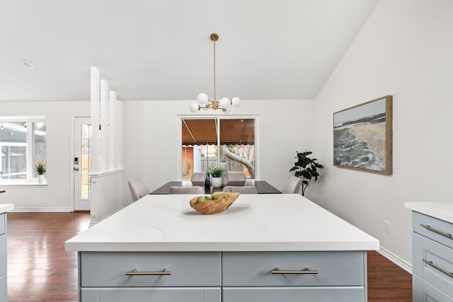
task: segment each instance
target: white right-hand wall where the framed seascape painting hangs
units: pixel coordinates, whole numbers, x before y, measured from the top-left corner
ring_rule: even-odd
[[[319,204],[411,263],[404,202],[453,202],[453,1],[381,0],[316,100]],[[333,112],[394,96],[393,175],[333,167]],[[384,233],[390,221],[391,233]]]

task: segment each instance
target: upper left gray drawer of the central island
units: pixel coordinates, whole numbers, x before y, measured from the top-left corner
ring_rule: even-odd
[[[219,252],[81,252],[81,286],[221,286]],[[126,275],[126,272],[164,272]]]

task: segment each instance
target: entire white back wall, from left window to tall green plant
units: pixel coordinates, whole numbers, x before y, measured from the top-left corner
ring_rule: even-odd
[[[188,109],[192,101],[120,102],[124,205],[132,202],[126,183],[132,176],[143,178],[150,190],[178,179],[178,115],[193,115]],[[44,115],[47,123],[47,186],[6,187],[1,202],[15,204],[18,211],[71,210],[71,122],[74,116],[89,116],[89,101],[1,102],[0,112]],[[315,148],[314,113],[313,100],[243,100],[241,107],[232,109],[229,115],[258,116],[260,179],[281,189],[296,150]]]

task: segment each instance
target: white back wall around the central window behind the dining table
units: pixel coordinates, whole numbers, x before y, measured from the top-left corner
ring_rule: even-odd
[[[142,178],[150,190],[178,180],[180,115],[193,114],[193,100],[122,103],[125,178]],[[218,110],[217,110],[218,111]],[[224,115],[211,110],[211,115]],[[291,175],[296,151],[315,148],[313,100],[243,100],[229,115],[258,116],[258,178],[282,188]],[[315,185],[314,185],[315,186]],[[125,192],[129,194],[129,190]],[[132,202],[129,196],[125,196]]]

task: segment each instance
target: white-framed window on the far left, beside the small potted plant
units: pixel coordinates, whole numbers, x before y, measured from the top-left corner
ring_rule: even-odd
[[[44,117],[0,117],[0,184],[38,178],[35,165],[46,161]]]

